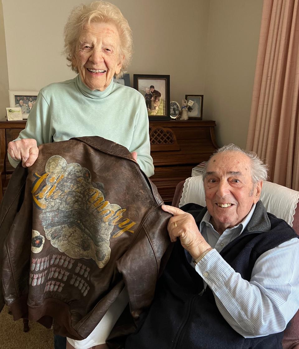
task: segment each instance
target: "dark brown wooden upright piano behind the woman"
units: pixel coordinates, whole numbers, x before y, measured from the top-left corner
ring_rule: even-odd
[[[0,121],[0,200],[14,168],[7,158],[7,144],[16,139],[26,121]],[[150,121],[151,156],[155,174],[151,180],[162,199],[170,203],[175,186],[191,176],[192,168],[207,160],[217,148],[215,121]]]

